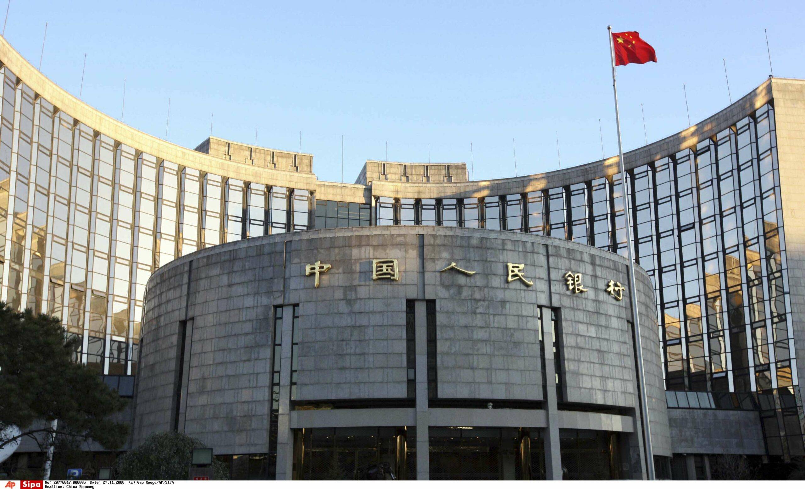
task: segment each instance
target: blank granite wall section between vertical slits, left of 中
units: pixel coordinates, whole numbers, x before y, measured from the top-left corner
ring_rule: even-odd
[[[274,243],[193,261],[184,432],[220,453],[266,450],[272,305],[282,303],[282,252],[283,244]]]

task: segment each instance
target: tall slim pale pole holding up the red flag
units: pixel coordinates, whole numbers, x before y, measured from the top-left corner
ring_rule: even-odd
[[[629,199],[626,198],[628,194],[628,186],[626,185],[626,167],[623,162],[623,146],[621,144],[621,116],[617,110],[617,84],[615,82],[615,47],[612,39],[612,26],[607,26],[607,35],[609,37],[609,60],[612,63],[612,91],[615,96],[615,124],[617,126],[617,154],[618,160],[621,163],[621,197],[623,199],[623,217],[626,231],[626,257],[629,261],[629,292],[630,292],[630,305],[632,307],[632,318],[634,324],[634,346],[637,350],[638,361],[638,389],[640,394],[640,410],[643,429],[643,444],[646,448],[646,469],[648,471],[648,479],[654,480],[654,450],[651,447],[651,430],[649,425],[649,409],[648,401],[646,400],[646,369],[643,368],[643,349],[642,341],[640,338],[640,319],[638,316],[638,292],[635,286],[634,279],[634,257],[632,256],[632,232],[629,219]]]

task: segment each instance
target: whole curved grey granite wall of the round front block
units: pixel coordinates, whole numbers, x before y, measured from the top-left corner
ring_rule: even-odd
[[[373,281],[374,258],[397,259],[400,281]],[[304,275],[305,265],[315,261],[332,265],[321,274],[319,288],[314,277]],[[440,272],[453,261],[477,273]],[[508,262],[524,264],[534,286],[507,282]],[[636,405],[628,302],[604,291],[609,278],[628,282],[620,257],[508,232],[323,230],[204,249],[154,274],[143,323],[135,443],[171,428],[176,334],[185,318],[191,264],[192,347],[181,429],[215,446],[216,453],[266,450],[274,306],[299,304],[295,401],[405,397],[406,300],[420,298],[420,278],[424,298],[437,304],[439,397],[542,400],[537,306],[552,305],[562,308],[568,401]],[[562,275],[568,269],[583,273],[588,292],[567,290]],[[644,273],[638,280],[645,289],[644,351],[647,359],[656,359],[653,292]],[[658,434],[654,427],[652,433],[655,442],[667,445],[658,368],[647,372],[646,380],[657,390],[649,393],[652,422],[659,426]]]

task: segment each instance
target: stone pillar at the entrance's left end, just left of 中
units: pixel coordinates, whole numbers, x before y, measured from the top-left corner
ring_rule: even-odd
[[[283,306],[283,347],[279,360],[279,417],[277,422],[277,480],[293,477],[294,437],[291,433],[291,343],[294,306]]]

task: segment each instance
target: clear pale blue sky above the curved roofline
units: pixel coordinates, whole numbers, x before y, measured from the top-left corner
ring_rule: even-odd
[[[0,15],[6,0],[0,0]],[[45,2],[11,0],[6,39],[69,92],[195,147],[210,130],[314,155],[353,182],[366,159],[467,162],[475,179],[617,152],[606,26],[658,63],[618,68],[624,149],[687,127],[769,76],[805,78],[803,2]]]

